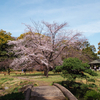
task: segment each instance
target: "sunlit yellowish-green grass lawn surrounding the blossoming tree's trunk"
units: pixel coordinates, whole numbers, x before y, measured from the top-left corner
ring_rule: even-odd
[[[21,73],[21,74],[20,74]],[[92,87],[95,90],[100,90],[100,72],[97,72],[98,76],[91,76],[92,79],[95,80],[95,84],[97,87]],[[0,95],[5,96],[7,94],[18,93],[20,88],[32,84],[34,86],[50,86],[53,82],[61,82],[65,81],[63,77],[61,77],[60,73],[49,72],[49,77],[46,78],[43,75],[43,72],[11,72],[10,75],[4,74],[1,72],[0,74]],[[79,83],[89,84],[86,79],[76,79]]]

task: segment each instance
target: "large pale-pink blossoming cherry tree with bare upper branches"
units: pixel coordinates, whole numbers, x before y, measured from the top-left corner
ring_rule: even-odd
[[[66,26],[66,22],[62,24],[33,22],[33,27],[26,25],[29,35],[23,39],[8,42],[9,45],[14,45],[11,51],[19,55],[10,66],[18,69],[37,63],[44,66],[44,74],[48,77],[49,68],[54,67],[55,61],[62,64],[60,55],[66,47],[78,48],[77,43],[84,42],[81,33],[68,32]]]

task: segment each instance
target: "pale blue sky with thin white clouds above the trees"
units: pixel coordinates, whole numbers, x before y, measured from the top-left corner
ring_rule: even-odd
[[[100,42],[100,0],[0,0],[0,29],[18,37],[22,23],[68,22],[68,29],[83,32],[91,45]]]

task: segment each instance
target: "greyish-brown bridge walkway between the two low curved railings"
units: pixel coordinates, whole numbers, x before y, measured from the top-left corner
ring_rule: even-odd
[[[66,98],[55,86],[38,86],[32,88],[30,100],[66,100]]]

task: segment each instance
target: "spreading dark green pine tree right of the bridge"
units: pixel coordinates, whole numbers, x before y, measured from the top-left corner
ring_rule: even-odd
[[[75,81],[76,78],[87,78],[85,73],[96,76],[97,73],[92,71],[87,63],[83,63],[78,58],[64,59],[62,66],[57,66],[55,70],[61,70],[62,76],[69,81]]]

